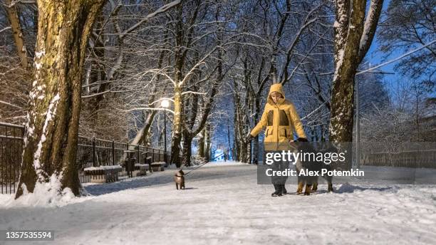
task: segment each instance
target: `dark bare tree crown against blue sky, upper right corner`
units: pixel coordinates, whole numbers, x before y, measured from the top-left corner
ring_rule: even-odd
[[[378,30],[380,51],[390,56],[425,46],[436,38],[436,1],[393,0],[382,15]],[[435,85],[436,44],[403,58],[395,65],[403,75]]]

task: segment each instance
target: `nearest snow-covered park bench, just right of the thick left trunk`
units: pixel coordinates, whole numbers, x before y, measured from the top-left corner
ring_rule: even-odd
[[[118,173],[123,170],[120,165],[86,167],[83,172],[90,176],[90,182],[109,183],[118,181]]]

